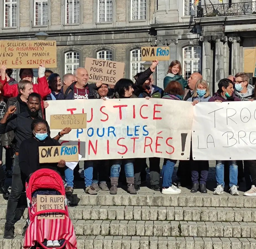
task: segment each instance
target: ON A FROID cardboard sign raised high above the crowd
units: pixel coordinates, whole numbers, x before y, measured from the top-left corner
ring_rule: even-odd
[[[141,60],[169,60],[169,47],[141,47]]]

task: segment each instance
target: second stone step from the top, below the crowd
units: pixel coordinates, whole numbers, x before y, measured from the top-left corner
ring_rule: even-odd
[[[7,205],[0,206],[0,219],[5,219],[6,210]],[[75,220],[256,222],[255,208],[74,206],[68,210]],[[16,214],[27,219],[27,208],[18,208]]]

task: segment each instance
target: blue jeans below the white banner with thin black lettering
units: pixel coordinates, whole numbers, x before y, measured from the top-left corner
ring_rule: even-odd
[[[229,187],[231,188],[233,185],[237,186],[237,176],[238,176],[238,166],[236,161],[228,161],[229,162]],[[216,181],[217,185],[225,186],[224,183],[224,161],[216,161]]]

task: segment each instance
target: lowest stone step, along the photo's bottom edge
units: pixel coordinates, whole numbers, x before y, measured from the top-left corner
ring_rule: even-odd
[[[24,238],[0,236],[1,249],[22,249]],[[78,236],[77,249],[255,249],[254,238]]]

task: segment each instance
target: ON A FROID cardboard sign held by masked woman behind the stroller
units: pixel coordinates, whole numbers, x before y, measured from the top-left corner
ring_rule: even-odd
[[[78,146],[39,146],[39,163],[78,162]]]

